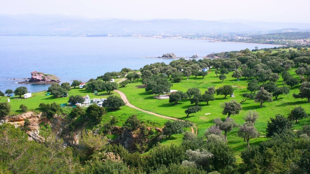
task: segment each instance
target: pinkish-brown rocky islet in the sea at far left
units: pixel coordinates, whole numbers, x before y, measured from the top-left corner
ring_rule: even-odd
[[[60,82],[59,80],[60,78],[55,75],[33,71],[31,72],[31,78],[29,80],[21,81],[19,83],[58,83]]]

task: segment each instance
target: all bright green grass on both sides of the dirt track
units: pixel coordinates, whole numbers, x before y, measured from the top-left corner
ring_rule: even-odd
[[[290,70],[290,73],[295,77],[299,78],[298,75],[295,74],[294,68]],[[221,83],[221,80],[218,79],[215,75],[215,69],[211,69],[211,72],[202,79],[201,77],[195,78],[194,76],[191,76],[188,80],[186,80],[186,77],[184,77],[184,80],[182,80],[179,83],[174,83],[171,89],[176,89],[179,91],[186,92],[187,89],[198,87],[201,90],[201,93],[204,93],[205,90],[207,90],[210,86],[215,86],[215,88],[219,88],[223,85],[232,85],[234,88],[234,98],[227,96],[226,99],[223,99],[224,96],[217,96],[215,95],[215,101],[210,101],[209,105],[206,105],[206,103],[200,103],[199,105],[202,107],[202,111],[189,115],[188,120],[192,121],[198,128],[198,136],[204,136],[204,132],[207,128],[212,126],[213,119],[214,118],[226,118],[227,115],[223,115],[222,111],[223,109],[220,107],[221,103],[228,102],[232,99],[236,100],[237,102],[241,102],[242,96],[241,94],[248,92],[246,87],[247,83],[250,82],[250,80],[244,80],[244,78],[241,78],[241,81],[237,81],[236,78],[231,77],[232,72],[230,72],[227,75],[227,79],[224,80],[223,83]],[[179,101],[178,105],[174,105],[173,103],[169,103],[169,99],[163,99],[158,100],[153,98],[153,94],[151,92],[146,92],[145,89],[141,88],[141,79],[138,82],[134,82],[131,84],[126,85],[125,88],[120,88],[119,90],[124,92],[128,98],[128,100],[131,102],[131,104],[135,105],[136,107],[139,107],[141,109],[151,111],[160,115],[166,115],[169,117],[179,118],[183,120],[187,120],[186,114],[184,111],[190,107],[193,106],[193,104],[190,104],[189,100]],[[277,85],[280,87],[282,85],[282,78],[279,79],[277,82]],[[259,113],[259,118],[257,119],[257,123],[255,124],[255,127],[258,129],[258,131],[261,133],[262,137],[254,138],[250,140],[250,145],[259,144],[262,141],[266,141],[268,138],[263,137],[263,135],[266,135],[266,126],[267,122],[270,120],[270,117],[274,117],[276,114],[281,114],[288,116],[290,111],[297,106],[302,106],[305,108],[306,112],[310,112],[310,104],[306,103],[306,99],[295,99],[292,97],[293,93],[298,93],[298,88],[300,87],[300,84],[297,86],[294,86],[290,94],[288,95],[280,95],[277,100],[274,100],[270,103],[264,103],[262,108],[259,108],[259,103],[255,103],[254,100],[248,99],[246,102],[242,103],[242,111],[240,111],[240,114],[238,115],[232,115],[231,118],[233,118],[237,124],[243,124],[246,113],[249,110],[256,110]],[[72,89],[69,91],[70,95],[82,95],[86,96],[88,94],[91,98],[107,98],[107,92],[105,91],[98,91],[98,95],[94,95],[91,93],[91,91],[86,91],[85,89]],[[56,102],[58,104],[66,103],[68,102],[68,97],[65,98],[54,98],[51,95],[46,95],[46,91],[33,93],[33,97],[31,98],[18,98],[18,97],[11,97],[11,114],[20,114],[21,110],[19,109],[20,104],[25,104],[29,110],[33,111],[39,111],[39,104],[41,102],[44,103],[51,103]],[[110,95],[118,95],[116,92],[111,92]],[[6,102],[7,97],[0,97],[0,102]],[[273,97],[273,99],[275,99]],[[66,107],[65,111],[69,113],[71,110],[71,107]],[[206,113],[210,113],[208,115],[205,115]],[[102,123],[107,122],[111,119],[111,116],[114,116],[119,120],[117,123],[117,126],[122,126],[122,124],[125,122],[125,120],[130,116],[136,114],[138,116],[138,119],[143,121],[144,124],[150,127],[159,127],[162,128],[164,126],[164,123],[167,121],[166,119],[162,119],[160,117],[150,115],[141,111],[137,111],[133,108],[130,108],[128,106],[122,107],[122,109],[117,111],[108,111],[108,114],[104,116],[104,119],[102,120]],[[297,124],[294,125],[294,129],[301,129],[303,125],[309,124],[310,118],[299,120]],[[190,131],[190,128],[188,128],[188,131]],[[246,147],[246,142],[243,142],[243,138],[240,138],[237,136],[238,128],[234,128],[233,131],[228,133],[228,144],[236,150],[236,154],[238,155],[241,150],[243,150]],[[178,145],[182,142],[182,135],[173,135],[170,137],[170,140],[166,140],[165,138],[161,141],[162,144],[175,144]]]

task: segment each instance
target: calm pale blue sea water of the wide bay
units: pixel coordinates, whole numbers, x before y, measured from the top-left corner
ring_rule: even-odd
[[[48,84],[17,84],[32,71],[54,74],[61,82],[86,82],[105,72],[173,59],[158,59],[166,53],[177,57],[206,56],[223,51],[274,47],[188,39],[144,39],[130,37],[0,37],[0,90],[26,86],[30,92],[47,90]]]

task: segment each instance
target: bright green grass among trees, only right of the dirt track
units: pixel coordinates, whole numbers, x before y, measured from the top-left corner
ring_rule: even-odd
[[[295,74],[294,69],[291,69],[290,73],[294,77],[299,78],[299,76]],[[198,87],[201,90],[201,93],[204,93],[207,87],[210,86],[215,86],[216,89],[223,85],[233,86],[235,96],[234,98],[227,96],[226,99],[223,99],[224,96],[215,95],[215,101],[210,101],[209,105],[206,105],[206,103],[200,103],[199,105],[202,107],[202,111],[191,114],[189,116],[188,120],[195,123],[198,127],[198,136],[203,136],[203,133],[206,131],[206,129],[214,124],[214,118],[219,117],[224,119],[227,117],[227,115],[222,114],[223,109],[220,107],[221,103],[228,102],[232,99],[236,100],[237,102],[241,102],[241,94],[248,92],[246,87],[250,80],[244,80],[244,78],[242,78],[241,81],[237,81],[236,78],[231,77],[231,75],[232,72],[227,75],[227,79],[224,80],[224,83],[221,83],[218,77],[216,77],[214,69],[212,69],[212,72],[208,74],[208,76],[205,76],[204,79],[201,77],[195,78],[194,76],[191,76],[188,80],[186,80],[186,77],[184,77],[184,80],[179,83],[174,83],[171,87],[171,89],[183,92],[186,92],[188,88]],[[157,114],[187,120],[184,111],[188,107],[193,106],[193,104],[190,104],[189,100],[178,102],[178,105],[169,103],[169,99],[157,100],[153,98],[154,95],[151,94],[151,92],[146,92],[144,88],[140,88],[140,85],[142,84],[139,80],[138,82],[126,85],[125,88],[121,88],[120,90],[126,94],[129,102],[131,102],[131,104],[135,105],[136,107]],[[277,85],[281,87],[281,78],[279,79]],[[245,117],[246,113],[249,110],[256,110],[259,113],[259,118],[255,124],[255,127],[258,129],[262,136],[266,135],[265,129],[267,127],[267,122],[270,121],[270,117],[274,117],[276,114],[288,116],[290,111],[299,105],[305,108],[306,112],[310,111],[310,105],[306,103],[306,99],[295,99],[292,96],[293,93],[299,92],[299,87],[300,84],[294,86],[293,89],[291,89],[290,94],[280,95],[277,100],[274,100],[270,103],[264,103],[262,108],[259,107],[259,103],[255,103],[254,100],[248,99],[246,102],[242,103],[242,111],[240,111],[240,114],[232,115],[231,118],[233,118],[237,124],[243,124],[243,118]],[[275,98],[273,97],[273,99]],[[206,113],[210,114],[205,115]],[[309,118],[300,120],[296,125],[294,125],[294,129],[300,129],[303,125],[309,124],[309,122]],[[228,144],[234,150],[240,151],[246,147],[246,142],[243,142],[243,138],[237,136],[237,130],[238,128],[234,128],[233,131],[228,133]],[[171,139],[173,140],[171,143],[179,144],[181,142],[182,136],[172,136]],[[258,137],[251,139],[250,144],[259,144],[260,142],[266,140],[267,138],[265,137]]]

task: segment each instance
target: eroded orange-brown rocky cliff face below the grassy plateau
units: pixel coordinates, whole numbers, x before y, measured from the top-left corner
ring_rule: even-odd
[[[44,143],[45,138],[40,134],[40,126],[48,124],[51,126],[51,133],[55,134],[57,138],[62,138],[64,140],[64,146],[78,146],[81,131],[77,130],[76,132],[71,132],[67,128],[67,124],[71,121],[65,119],[63,116],[54,115],[50,120],[46,116],[42,116],[42,113],[36,114],[33,112],[27,112],[21,115],[16,115],[12,117],[5,117],[0,120],[0,125],[3,123],[10,123],[17,127],[24,127],[25,119],[29,120],[29,130],[26,130],[25,133],[28,134],[28,140],[34,140],[40,143]],[[150,131],[152,128],[148,128]],[[154,128],[157,132],[161,133],[160,128]],[[99,129],[94,130],[94,133],[97,134]],[[119,135],[115,140],[109,140],[112,144],[121,144],[129,152],[137,151],[136,144],[141,144],[142,142],[148,143],[148,139],[144,138],[140,133],[139,129],[135,131],[130,131],[128,129],[123,129],[122,127],[113,126],[111,135]]]

